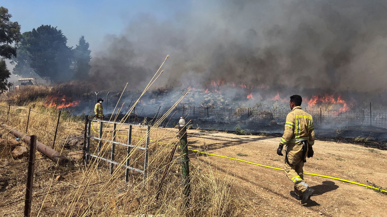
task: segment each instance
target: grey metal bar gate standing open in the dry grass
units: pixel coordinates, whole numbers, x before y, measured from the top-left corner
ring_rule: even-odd
[[[99,125],[99,137],[94,137],[94,136],[91,136],[91,128],[92,128],[92,122],[97,122],[98,125]],[[108,124],[113,124],[113,136],[112,136],[112,139],[109,140],[109,139],[103,139],[102,136],[103,136],[103,123],[108,123]],[[121,125],[128,125],[128,140],[127,140],[127,143],[121,143],[121,142],[116,142],[115,140],[115,137],[116,137],[116,127],[117,127],[117,124],[121,124]],[[137,126],[137,127],[147,127],[147,131],[146,131],[146,143],[145,143],[145,147],[141,147],[141,146],[134,146],[132,145],[132,127],[133,126]],[[144,180],[145,178],[147,177],[147,167],[148,167],[148,157],[149,157],[149,149],[148,149],[148,146],[149,146],[149,134],[150,134],[150,129],[151,127],[150,126],[147,126],[147,125],[140,125],[140,124],[125,124],[125,123],[120,123],[120,122],[113,122],[113,121],[107,121],[107,120],[97,120],[97,119],[89,119],[88,120],[88,124],[87,124],[87,140],[86,140],[86,166],[88,165],[89,163],[89,158],[92,157],[92,158],[97,158],[99,160],[103,160],[103,161],[106,161],[108,163],[110,163],[110,175],[113,174],[113,168],[114,168],[114,165],[118,165],[118,166],[122,166],[123,168],[125,168],[125,182],[128,181],[128,178],[129,178],[129,170],[134,170],[134,171],[137,171],[139,173],[142,173],[143,177],[144,177]],[[95,154],[92,154],[90,153],[90,139],[96,139],[98,140],[98,151],[96,151],[96,155]],[[99,152],[101,151],[101,147],[102,147],[102,141],[105,141],[105,142],[108,142],[108,144],[111,145],[111,155],[110,155],[110,159],[108,158],[103,158],[101,156],[99,156]],[[121,145],[121,146],[126,146],[126,163],[125,164],[122,164],[122,163],[118,163],[115,161],[115,146],[116,145]],[[130,154],[130,151],[132,148],[135,148],[135,149],[142,149],[144,150],[144,168],[134,168],[132,166],[130,166],[130,158],[129,158],[129,154]]]

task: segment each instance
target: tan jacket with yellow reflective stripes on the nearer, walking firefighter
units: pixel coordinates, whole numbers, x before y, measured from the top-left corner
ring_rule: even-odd
[[[308,141],[313,146],[315,140],[313,119],[310,114],[296,106],[286,116],[285,131],[280,143],[283,145]]]

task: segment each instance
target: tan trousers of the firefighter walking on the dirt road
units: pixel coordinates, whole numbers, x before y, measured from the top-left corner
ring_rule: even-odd
[[[290,143],[286,146],[285,174],[294,183],[294,191],[297,195],[307,190],[308,184],[304,180],[304,160],[308,153],[308,142],[305,141],[303,156],[303,142]],[[306,149],[306,150],[305,150]],[[302,158],[303,157],[303,158]]]

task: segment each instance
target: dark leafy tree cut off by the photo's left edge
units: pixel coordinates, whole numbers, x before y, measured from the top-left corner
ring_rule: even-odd
[[[8,14],[8,9],[0,7],[0,92],[7,90],[7,79],[11,75],[7,69],[5,59],[11,59],[16,56],[16,48],[11,44],[19,41],[20,25],[17,22],[11,22],[12,15]]]

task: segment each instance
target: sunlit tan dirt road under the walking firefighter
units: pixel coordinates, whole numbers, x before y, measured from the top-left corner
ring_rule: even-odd
[[[276,154],[278,137],[189,130],[188,141],[193,149],[283,168],[284,157]],[[387,186],[387,151],[322,141],[316,141],[313,149],[315,154],[307,159],[305,172]],[[237,156],[238,153],[247,156]],[[283,171],[215,156],[196,156],[235,182],[251,204],[246,216],[387,216],[387,195],[363,186],[305,175],[316,193],[312,202],[301,205],[289,195],[293,185]],[[195,153],[190,157],[195,158]]]

